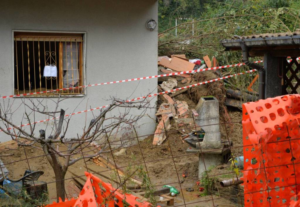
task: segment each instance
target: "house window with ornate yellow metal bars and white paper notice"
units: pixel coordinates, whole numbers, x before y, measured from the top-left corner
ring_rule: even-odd
[[[78,33],[14,32],[15,94],[56,89],[63,89],[55,91],[63,95],[82,93],[82,37]]]

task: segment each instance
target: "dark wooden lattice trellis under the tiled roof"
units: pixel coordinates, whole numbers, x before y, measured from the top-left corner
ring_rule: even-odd
[[[300,64],[292,57],[291,62],[283,61],[283,86],[282,94],[296,94],[297,88],[300,87]],[[299,91],[299,90],[298,90]]]

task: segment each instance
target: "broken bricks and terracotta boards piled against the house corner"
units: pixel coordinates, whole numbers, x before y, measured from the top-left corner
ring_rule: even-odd
[[[215,59],[215,58],[214,58]],[[214,61],[216,65],[217,62]],[[208,56],[203,57],[203,59],[187,59],[185,55],[171,55],[171,56],[160,56],[158,57],[158,74],[170,74],[172,72],[183,72],[183,71],[191,71],[196,69],[203,69],[206,67],[211,67],[211,61]],[[196,74],[180,74],[180,75],[172,75],[166,77],[158,78],[158,90],[159,91],[167,91],[172,90],[176,87],[183,87],[193,83],[198,83],[206,80],[210,80],[213,78],[206,77],[205,73],[201,73],[204,76],[203,80],[199,80],[199,78],[194,78]],[[213,72],[208,72],[208,74],[214,75]],[[216,76],[217,77],[217,76]],[[215,83],[213,83],[215,84]],[[220,85],[220,83],[217,83]],[[199,86],[199,89],[202,90],[203,87]],[[219,87],[219,86],[217,86]],[[197,87],[195,87],[197,88]],[[208,92],[208,90],[205,90]],[[216,90],[214,90],[216,91]],[[223,91],[221,91],[223,92]],[[192,113],[190,112],[195,107],[194,103],[197,103],[198,100],[191,101],[192,98],[188,98],[187,95],[190,92],[189,88],[184,90],[172,92],[169,95],[164,94],[163,97],[159,97],[159,108],[157,113],[155,114],[158,120],[158,125],[155,130],[155,135],[153,138],[153,145],[161,145],[166,139],[165,130],[172,128],[173,126],[176,129],[182,126],[193,126]],[[184,98],[179,95],[182,94]],[[200,96],[205,96],[208,94],[200,93]],[[209,95],[214,95],[209,93]],[[176,97],[176,98],[175,98]],[[192,132],[185,132],[184,130],[178,130],[178,132],[182,133],[184,139],[187,134]]]

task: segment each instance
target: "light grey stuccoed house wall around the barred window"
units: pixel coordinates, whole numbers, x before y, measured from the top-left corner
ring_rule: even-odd
[[[98,1],[2,1],[0,10],[0,94],[11,95],[13,90],[13,30],[86,32],[85,35],[85,83],[95,84],[128,78],[157,74],[157,28],[146,29],[146,20],[157,21],[158,3],[156,0],[98,0]],[[110,103],[107,99],[115,96],[128,99],[156,93],[157,79],[132,81],[119,84],[88,87],[83,97],[72,97],[60,104],[66,114],[95,108]],[[56,98],[51,98],[56,99]],[[33,98],[43,100],[43,98]],[[4,101],[4,102],[2,102]],[[9,102],[10,101],[10,102]],[[23,99],[1,100],[1,105],[13,101],[13,123],[28,123],[22,120]],[[152,99],[151,105],[155,104]],[[53,110],[51,100],[43,100]],[[18,108],[19,107],[19,108]],[[122,110],[121,110],[122,111]],[[140,114],[141,110],[132,109],[130,114]],[[99,111],[93,112],[95,115]],[[150,117],[155,117],[155,110],[148,110]],[[118,115],[114,110],[110,115]],[[32,117],[32,114],[30,115]],[[86,116],[86,117],[85,117]],[[91,112],[74,115],[71,118],[66,137],[82,133],[85,122],[89,123]],[[47,118],[35,114],[35,120]],[[51,130],[46,122],[38,123],[37,129],[46,129],[46,136]],[[49,122],[48,124],[52,124]],[[3,124],[1,124],[3,126]],[[139,135],[154,132],[155,122],[149,117],[139,122]],[[29,130],[29,127],[24,128]],[[38,131],[38,130],[37,130]],[[0,132],[0,141],[11,138]]]

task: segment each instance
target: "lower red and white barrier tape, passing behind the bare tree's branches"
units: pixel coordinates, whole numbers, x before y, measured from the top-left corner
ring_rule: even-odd
[[[236,73],[236,74],[233,74],[233,75],[224,76],[222,78],[216,78],[216,79],[213,79],[213,80],[210,80],[210,81],[204,81],[202,83],[192,84],[192,85],[189,85],[189,86],[184,86],[184,87],[181,87],[181,88],[176,88],[176,89],[164,91],[164,92],[161,92],[161,93],[155,93],[155,94],[150,94],[150,95],[142,96],[142,97],[135,98],[135,99],[126,100],[125,102],[132,102],[132,101],[139,100],[139,99],[145,99],[145,98],[152,97],[152,96],[158,96],[158,95],[165,94],[165,93],[170,93],[170,92],[174,92],[174,91],[178,91],[178,90],[183,90],[185,88],[191,88],[191,87],[195,87],[195,86],[200,86],[200,85],[203,85],[203,84],[208,84],[208,83],[212,83],[212,82],[215,82],[215,81],[220,81],[220,80],[231,78],[231,77],[234,77],[234,76],[237,76],[237,75],[243,75],[243,74],[246,74],[246,73],[252,73],[252,72],[255,72],[255,71],[256,71],[256,69],[249,70],[249,71],[246,71],[246,72]],[[76,112],[76,113],[67,114],[67,115],[64,115],[64,116],[68,117],[68,116],[71,116],[71,115],[74,115],[74,114],[80,114],[80,113],[83,113],[83,112],[94,111],[96,109],[101,109],[101,108],[105,108],[105,107],[108,107],[108,105],[100,106],[100,107],[97,107],[97,108],[91,108],[91,109],[87,109],[87,110],[84,110],[84,111],[79,111],[79,112]],[[59,119],[59,117],[55,117],[55,118]],[[54,118],[49,118],[49,119],[40,120],[40,121],[36,121],[36,122],[32,122],[32,123],[22,124],[22,125],[19,125],[17,127],[29,126],[31,124],[41,123],[41,122],[45,122],[45,121],[49,121],[49,120],[53,120],[53,119]],[[4,130],[13,129],[13,128],[16,128],[16,127],[10,127],[10,128],[4,129]],[[0,132],[1,131],[3,131],[3,130],[0,130]]]

